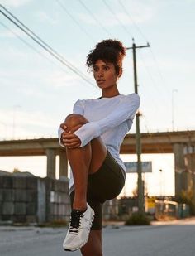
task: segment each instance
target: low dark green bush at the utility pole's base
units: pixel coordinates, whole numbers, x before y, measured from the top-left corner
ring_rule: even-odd
[[[150,225],[150,219],[147,215],[136,212],[126,220],[125,225]]]

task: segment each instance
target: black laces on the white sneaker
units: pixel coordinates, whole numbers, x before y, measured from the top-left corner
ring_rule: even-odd
[[[83,212],[80,210],[73,210],[69,222],[69,234],[78,234],[80,227],[80,220],[83,217]]]

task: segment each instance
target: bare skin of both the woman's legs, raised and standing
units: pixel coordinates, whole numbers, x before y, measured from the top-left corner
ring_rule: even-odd
[[[74,133],[88,120],[77,114],[69,115],[65,125]],[[67,148],[67,157],[74,176],[73,208],[85,210],[87,206],[88,174],[98,171],[107,155],[107,148],[101,138],[95,138],[88,145]],[[102,230],[91,230],[87,244],[80,249],[83,256],[102,256]]]

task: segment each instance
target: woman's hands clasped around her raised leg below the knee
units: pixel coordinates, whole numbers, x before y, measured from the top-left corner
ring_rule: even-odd
[[[71,130],[69,130],[65,125],[65,123],[60,124],[60,127],[64,129],[64,132],[61,135],[61,142],[64,144],[65,147],[71,149],[71,148],[77,148],[80,146],[81,141],[78,138],[78,136],[74,134],[74,132],[77,131],[78,128],[80,128],[81,126],[82,125],[78,125],[72,128]]]

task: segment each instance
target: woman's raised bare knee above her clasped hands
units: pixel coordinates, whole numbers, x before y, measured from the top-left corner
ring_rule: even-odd
[[[88,120],[81,114],[69,114],[65,118],[65,125],[69,131],[76,127],[80,128],[85,123],[88,123]]]

